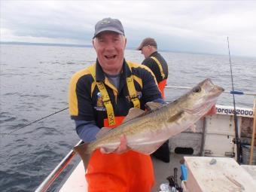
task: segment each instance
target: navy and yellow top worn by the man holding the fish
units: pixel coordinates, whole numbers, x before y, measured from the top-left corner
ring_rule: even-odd
[[[93,70],[95,77],[93,77]],[[127,79],[132,78],[136,90],[136,98],[131,98]],[[96,80],[96,81],[95,81]],[[120,85],[117,90],[102,71],[98,60],[96,64],[73,75],[69,87],[69,112],[73,120],[95,121],[102,127],[108,114],[99,90],[101,82],[105,85],[111,102],[114,116],[123,117],[134,107],[134,99],[139,100],[139,108],[145,109],[145,103],[161,98],[153,73],[146,66],[123,60]],[[109,119],[108,119],[109,120]]]

